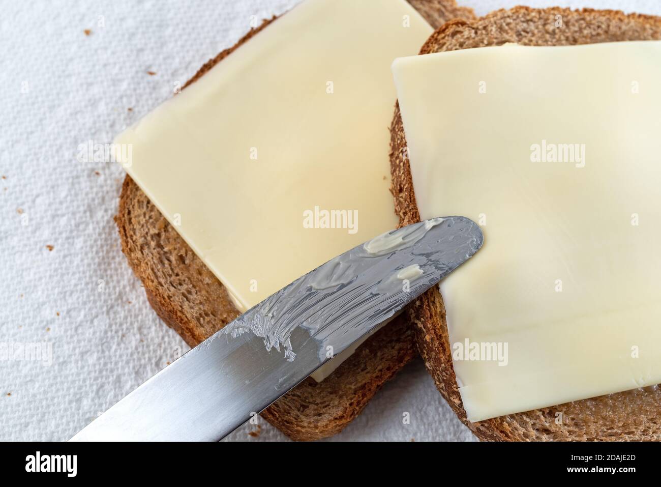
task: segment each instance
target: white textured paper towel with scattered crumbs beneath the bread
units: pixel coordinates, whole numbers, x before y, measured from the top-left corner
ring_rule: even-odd
[[[234,44],[251,16],[295,3],[3,3],[0,347],[13,355],[0,360],[0,440],[68,439],[188,349],[151,310],[120,251],[112,216],[122,169],[79,161],[79,144],[110,142]],[[459,3],[483,15],[522,1]],[[656,0],[529,3],[661,13]],[[260,420],[228,438],[266,439],[285,437]],[[473,439],[420,361],[332,438],[410,439]]]

